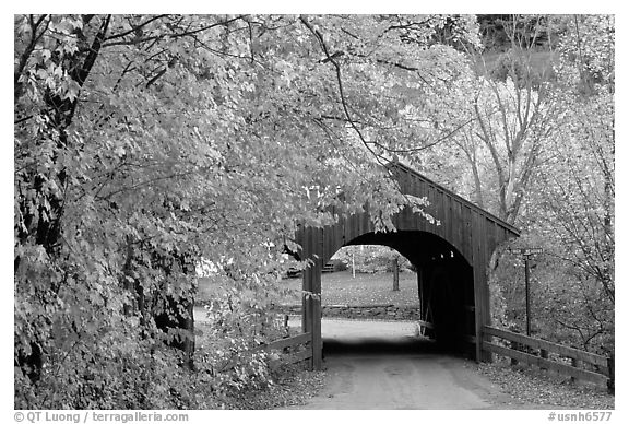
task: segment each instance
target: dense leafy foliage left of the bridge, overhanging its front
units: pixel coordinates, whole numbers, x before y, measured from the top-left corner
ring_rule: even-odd
[[[207,391],[266,380],[262,357],[226,380],[221,354],[199,360],[195,266],[233,287],[213,309],[217,343],[272,334],[266,294],[296,222],[369,203],[390,228],[413,202],[380,165],[451,131],[408,110],[441,119],[462,61],[442,40],[475,45],[476,30],[470,16],[16,15],[16,408],[211,408]],[[235,334],[244,317],[254,325]]]

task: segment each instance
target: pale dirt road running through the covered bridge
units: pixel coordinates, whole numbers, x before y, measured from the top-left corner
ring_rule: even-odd
[[[473,362],[439,352],[412,322],[330,319],[322,333],[327,385],[298,409],[514,408]]]

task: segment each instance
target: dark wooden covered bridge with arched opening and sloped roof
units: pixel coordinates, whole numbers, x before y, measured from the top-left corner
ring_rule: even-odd
[[[384,245],[405,256],[417,270],[422,325],[427,335],[448,345],[466,343],[484,358],[480,329],[490,323],[487,266],[496,247],[520,235],[514,226],[400,163],[390,165],[403,193],[426,197],[426,212],[405,208],[393,217],[394,233],[376,233],[369,213],[341,217],[323,228],[299,227],[300,257],[311,259],[302,290],[321,294],[321,271],[344,246]],[[305,296],[302,330],[312,334],[312,365],[322,365],[321,297]]]

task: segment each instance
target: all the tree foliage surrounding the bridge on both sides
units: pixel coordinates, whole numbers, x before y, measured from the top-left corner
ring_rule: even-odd
[[[296,223],[369,204],[392,229],[423,205],[395,160],[546,249],[544,335],[613,350],[614,20],[511,19],[484,69],[474,16],[16,15],[15,407],[214,408],[268,385],[246,352],[306,266],[285,259]],[[215,350],[194,343],[204,261]],[[495,267],[506,322],[514,263]]]

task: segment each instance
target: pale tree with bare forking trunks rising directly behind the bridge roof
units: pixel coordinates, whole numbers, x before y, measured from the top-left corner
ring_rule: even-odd
[[[558,25],[542,15],[479,21],[484,45],[465,47],[454,94],[444,102],[447,120],[461,125],[446,143],[418,152],[417,162],[446,186],[515,223],[545,140],[560,126],[549,85],[556,43],[548,42]]]

